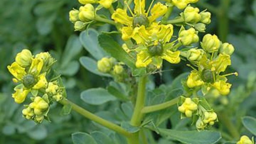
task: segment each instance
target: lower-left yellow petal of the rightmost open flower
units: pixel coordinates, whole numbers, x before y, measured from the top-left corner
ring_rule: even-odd
[[[194,88],[196,86],[203,85],[204,82],[201,79],[200,75],[198,75],[197,71],[192,71],[187,78],[187,86],[189,88]]]

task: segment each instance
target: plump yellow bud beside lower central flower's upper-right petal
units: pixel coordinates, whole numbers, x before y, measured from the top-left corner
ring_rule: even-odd
[[[184,27],[183,27],[184,29]],[[182,30],[179,33],[179,41],[184,45],[188,46],[192,43],[197,43],[199,41],[199,37],[197,35],[197,31],[194,28],[190,28],[188,30]]]

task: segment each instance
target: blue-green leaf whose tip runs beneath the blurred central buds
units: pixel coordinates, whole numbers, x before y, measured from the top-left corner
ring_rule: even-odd
[[[87,69],[88,71],[90,71],[90,72],[92,72],[96,75],[111,77],[111,75],[109,75],[109,74],[105,74],[105,73],[102,73],[102,72],[98,71],[97,62],[94,59],[91,59],[87,56],[82,56],[79,59],[79,61],[82,64],[82,66],[85,69]]]

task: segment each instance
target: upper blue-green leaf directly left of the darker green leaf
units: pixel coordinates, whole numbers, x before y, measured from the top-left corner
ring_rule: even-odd
[[[98,35],[98,31],[87,29],[79,36],[84,48],[97,60],[107,56],[107,53],[98,44]]]

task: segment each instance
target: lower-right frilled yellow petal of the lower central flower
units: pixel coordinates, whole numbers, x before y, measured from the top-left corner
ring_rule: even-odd
[[[170,50],[166,50],[161,57],[170,63],[176,64],[181,61],[180,53],[180,51],[172,52]]]

